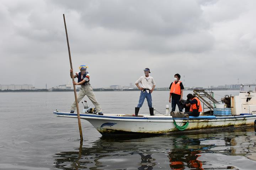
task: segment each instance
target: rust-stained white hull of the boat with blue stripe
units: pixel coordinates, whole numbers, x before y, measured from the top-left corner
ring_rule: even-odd
[[[77,118],[76,113],[54,112],[59,117]],[[241,115],[228,117],[198,117],[172,118],[171,116],[132,117],[123,115],[80,114],[81,119],[89,121],[101,134],[168,134],[179,131],[174,125],[183,126],[188,121],[184,131],[211,129],[220,127],[240,127],[255,125],[256,115]]]

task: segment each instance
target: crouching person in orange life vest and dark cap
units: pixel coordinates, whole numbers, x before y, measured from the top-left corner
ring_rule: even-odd
[[[189,103],[186,104],[186,106],[190,107],[190,111],[185,113],[188,114],[189,116],[198,117],[200,112],[202,112],[202,106],[199,99],[192,94],[188,94],[187,101]]]

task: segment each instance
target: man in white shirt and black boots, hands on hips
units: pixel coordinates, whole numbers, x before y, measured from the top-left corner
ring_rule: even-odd
[[[135,116],[138,116],[139,108],[142,107],[142,104],[146,98],[149,106],[149,113],[151,116],[154,115],[154,108],[152,107],[152,97],[151,93],[155,89],[155,81],[153,77],[149,76],[150,70],[149,68],[144,69],[145,75],[140,77],[137,81],[135,81],[135,85],[140,89],[140,98],[138,106],[135,107]]]

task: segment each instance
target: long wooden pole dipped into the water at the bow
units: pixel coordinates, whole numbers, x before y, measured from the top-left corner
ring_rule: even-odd
[[[69,62],[70,62],[70,68],[73,69],[72,66],[72,61],[71,61],[71,54],[70,54],[70,48],[69,48],[69,40],[68,40],[68,31],[66,29],[66,21],[65,21],[65,15],[63,14],[63,19],[64,19],[64,25],[65,25],[65,31],[66,31],[66,39],[67,39],[67,44],[68,44],[68,51],[69,51]],[[72,77],[72,82],[75,81],[74,79],[74,74],[71,74]],[[76,96],[76,87],[73,84],[74,87],[74,94],[75,94],[75,102],[76,102],[76,111],[77,111],[77,115],[78,115],[78,127],[79,127],[79,132],[80,132],[80,140],[82,141],[82,128],[81,128],[81,121],[80,121],[80,114],[79,114],[79,107],[78,107],[78,101],[77,101],[77,96]]]

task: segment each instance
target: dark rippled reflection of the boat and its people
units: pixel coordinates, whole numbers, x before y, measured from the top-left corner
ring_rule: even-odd
[[[212,134],[101,137],[92,143],[84,141],[83,146],[73,151],[55,154],[54,168],[254,169],[254,130],[242,128]]]

